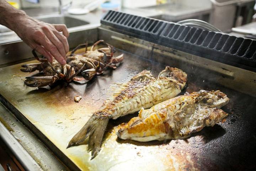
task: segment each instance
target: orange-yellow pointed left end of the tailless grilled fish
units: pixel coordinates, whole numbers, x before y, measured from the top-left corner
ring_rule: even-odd
[[[117,136],[121,139],[131,139],[135,141],[162,140],[167,136],[172,136],[170,125],[165,122],[167,111],[151,113],[143,108],[138,117],[132,118],[126,125],[121,126]]]

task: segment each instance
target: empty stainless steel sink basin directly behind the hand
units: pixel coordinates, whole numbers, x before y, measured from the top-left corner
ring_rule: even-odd
[[[77,18],[69,17],[69,16],[62,16],[62,15],[56,15],[56,16],[41,16],[36,17],[38,20],[41,20],[43,22],[47,22],[50,24],[64,24],[66,27],[78,27],[82,25],[87,25],[89,22],[79,20]]]

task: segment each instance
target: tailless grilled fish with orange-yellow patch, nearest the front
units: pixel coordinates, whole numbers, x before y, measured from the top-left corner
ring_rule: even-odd
[[[228,101],[219,90],[201,90],[171,98],[150,109],[142,108],[138,117],[118,130],[117,136],[143,142],[187,138],[205,126],[222,121],[228,114],[219,108]]]

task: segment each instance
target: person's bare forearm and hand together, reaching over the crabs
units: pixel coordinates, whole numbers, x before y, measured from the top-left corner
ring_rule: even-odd
[[[54,57],[59,63],[66,64],[69,33],[65,25],[39,21],[26,15],[24,11],[15,9],[5,0],[0,0],[0,24],[16,32],[28,46],[36,48],[50,62]]]

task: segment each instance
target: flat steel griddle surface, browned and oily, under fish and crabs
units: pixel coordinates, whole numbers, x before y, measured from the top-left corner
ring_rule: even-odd
[[[17,64],[0,69],[1,100],[27,125],[67,166],[76,170],[252,170],[256,167],[256,98],[208,81],[207,73],[199,68],[183,65],[188,74],[186,88],[181,94],[204,90],[221,90],[230,98],[222,109],[229,113],[224,123],[206,127],[183,140],[151,141],[146,143],[121,140],[116,136],[118,125],[128,116],[111,120],[108,124],[100,154],[90,160],[87,145],[66,149],[69,140],[78,132],[106,98],[112,82],[126,82],[144,69],[154,75],[165,65],[124,53],[123,63],[87,84],[72,82],[53,86],[50,90],[27,87],[26,76]],[[31,61],[34,63],[36,61]],[[178,66],[177,63],[166,63]],[[202,73],[204,72],[204,73]],[[208,71],[210,73],[210,71]],[[202,78],[204,76],[204,78]],[[218,80],[218,78],[216,78]],[[74,96],[81,95],[79,103]]]

